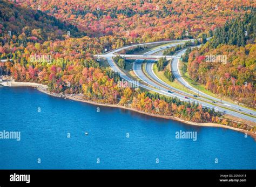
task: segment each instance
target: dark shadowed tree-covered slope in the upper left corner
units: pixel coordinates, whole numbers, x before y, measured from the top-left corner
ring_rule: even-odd
[[[19,43],[65,39],[69,32],[73,37],[85,36],[85,33],[78,32],[76,26],[40,10],[0,1],[0,36],[3,45],[10,39]]]

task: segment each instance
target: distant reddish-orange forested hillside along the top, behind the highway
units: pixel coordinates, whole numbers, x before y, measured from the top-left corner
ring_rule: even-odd
[[[122,45],[164,39],[197,37],[226,20],[243,16],[255,7],[253,1],[16,1],[66,23],[74,24],[87,36],[116,36]],[[113,47],[114,48],[114,47]]]

